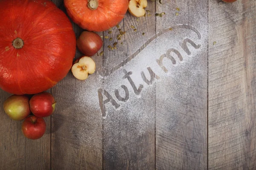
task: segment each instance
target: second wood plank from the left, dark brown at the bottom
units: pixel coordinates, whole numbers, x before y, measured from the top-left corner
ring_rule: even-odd
[[[52,1],[65,11],[62,0]],[[79,37],[83,30],[76,24],[73,28]],[[76,58],[81,55],[76,52]],[[54,170],[102,169],[102,114],[95,102],[98,100],[96,87],[102,85],[102,58],[97,55],[92,58],[96,72],[87,80],[76,79],[70,71],[52,88],[57,101],[52,115],[51,168]]]

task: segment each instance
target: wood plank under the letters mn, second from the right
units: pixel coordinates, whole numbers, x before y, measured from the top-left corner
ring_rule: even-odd
[[[159,34],[156,43],[160,77],[156,86],[156,169],[204,170],[207,169],[208,3],[205,0],[162,0],[162,3],[157,2],[156,12],[166,15],[157,17],[157,32],[169,28],[172,31]]]

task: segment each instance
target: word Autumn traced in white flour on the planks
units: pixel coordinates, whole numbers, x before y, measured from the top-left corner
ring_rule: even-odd
[[[193,28],[191,26],[182,26],[182,25],[177,26],[177,27],[191,29],[192,31],[195,31],[198,34],[198,38],[201,39],[200,33],[195,28]],[[187,55],[191,55],[191,51],[189,51],[189,48],[187,46],[188,43],[190,45],[192,45],[192,47],[195,49],[199,49],[201,47],[200,44],[196,45],[195,42],[193,42],[189,38],[186,38],[185,40],[183,40],[183,42],[180,44],[180,46],[186,52]],[[159,65],[159,69],[164,71],[165,73],[168,72],[168,69],[165,67],[165,65],[163,63],[164,58],[170,59],[173,65],[177,64],[176,59],[171,55],[172,53],[175,54],[180,61],[183,61],[183,56],[175,48],[169,48],[165,54],[162,54],[159,58],[156,59],[157,65]],[[122,65],[125,65],[125,64],[122,63]],[[156,79],[160,79],[160,77],[157,74],[155,74],[155,72],[152,70],[151,67],[147,67],[147,70],[149,72],[150,79],[147,79],[145,76],[145,73],[143,71],[141,71],[142,81],[144,81],[147,85],[151,85],[155,82]],[[114,71],[114,70],[112,70],[112,71]],[[131,74],[133,74],[132,71],[126,71],[125,69],[123,69],[123,74],[124,75],[123,75],[122,79],[128,80],[129,84],[131,85],[131,87],[134,91],[134,94],[140,95],[144,86],[142,84],[138,85],[138,87],[135,85],[133,79],[130,77]],[[127,86],[121,85],[121,88],[125,91],[124,96],[121,96],[117,89],[114,91],[114,95],[111,95],[105,89],[102,89],[102,88],[98,89],[99,106],[102,111],[103,119],[105,119],[108,115],[108,111],[106,108],[107,104],[111,104],[111,105],[113,105],[113,107],[115,109],[119,109],[121,107],[119,102],[127,102],[128,99],[130,98],[130,95],[129,95],[130,92],[129,92]],[[105,96],[105,100],[103,99],[103,96]],[[115,96],[115,98],[113,96]]]

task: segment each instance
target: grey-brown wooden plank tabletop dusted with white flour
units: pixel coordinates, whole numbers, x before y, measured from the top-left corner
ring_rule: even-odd
[[[58,104],[41,139],[0,108],[1,170],[256,169],[256,0],[160,2],[127,13],[122,40],[99,33],[113,40],[95,74],[49,90]]]

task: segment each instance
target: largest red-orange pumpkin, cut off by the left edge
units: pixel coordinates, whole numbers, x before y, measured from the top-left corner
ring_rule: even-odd
[[[76,36],[70,20],[49,0],[0,0],[0,88],[37,94],[70,70]]]

